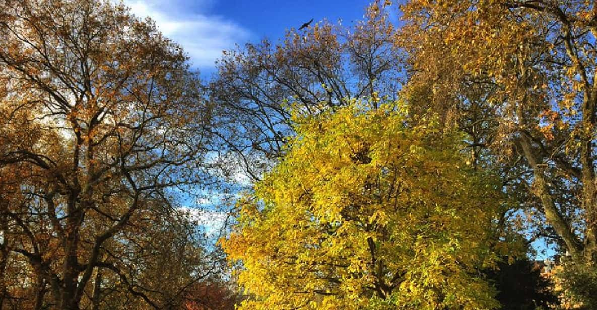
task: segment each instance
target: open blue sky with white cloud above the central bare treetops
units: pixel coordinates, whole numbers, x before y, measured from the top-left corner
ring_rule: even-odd
[[[362,18],[370,1],[245,1],[245,0],[124,0],[139,17],[149,16],[168,38],[178,42],[202,73],[214,71],[214,61],[235,44],[277,41],[290,27],[327,18],[350,24]]]

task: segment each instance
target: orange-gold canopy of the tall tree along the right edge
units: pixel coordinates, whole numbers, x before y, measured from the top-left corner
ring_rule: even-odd
[[[594,262],[594,4],[417,0],[402,10],[411,94],[456,118],[486,111],[477,147],[522,167],[555,238]]]

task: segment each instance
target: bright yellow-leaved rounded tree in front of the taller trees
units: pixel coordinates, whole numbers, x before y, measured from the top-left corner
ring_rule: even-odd
[[[221,240],[241,309],[491,309],[501,185],[463,136],[401,104],[297,117],[279,165]],[[418,124],[418,125],[416,125]]]

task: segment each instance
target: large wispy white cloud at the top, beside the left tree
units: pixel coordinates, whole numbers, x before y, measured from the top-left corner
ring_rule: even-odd
[[[180,44],[189,54],[194,67],[213,69],[214,61],[225,49],[234,48],[251,38],[251,32],[220,16],[198,12],[184,2],[167,0],[125,0],[137,17],[150,17],[168,38]],[[208,7],[208,2],[199,6]]]

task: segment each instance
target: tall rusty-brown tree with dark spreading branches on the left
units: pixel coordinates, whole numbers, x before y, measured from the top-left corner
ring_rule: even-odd
[[[208,272],[174,199],[210,116],[181,48],[96,0],[1,1],[0,38],[0,308],[176,306]]]

